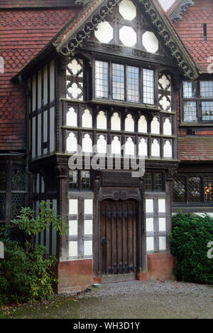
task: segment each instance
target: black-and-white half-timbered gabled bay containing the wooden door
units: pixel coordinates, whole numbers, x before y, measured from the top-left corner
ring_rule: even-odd
[[[1,162],[1,221],[10,221],[15,195],[35,211],[42,199],[52,203],[69,233],[49,230],[35,242],[58,256],[59,292],[172,278],[177,101],[182,82],[189,92],[198,80],[195,60],[156,1],[61,2],[64,24],[12,78],[23,93],[26,146],[17,162],[6,152]],[[58,1],[52,6],[62,20]],[[143,159],[144,173],[133,176],[131,161]],[[27,181],[18,182],[22,164]]]

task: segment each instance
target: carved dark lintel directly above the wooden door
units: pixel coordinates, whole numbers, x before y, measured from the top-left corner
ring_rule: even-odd
[[[113,199],[116,201],[136,199],[141,201],[141,192],[139,189],[111,189],[104,187],[99,190],[98,201],[105,199]]]

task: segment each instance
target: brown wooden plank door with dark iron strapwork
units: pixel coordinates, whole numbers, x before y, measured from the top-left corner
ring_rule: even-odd
[[[101,203],[102,281],[136,279],[136,203]]]

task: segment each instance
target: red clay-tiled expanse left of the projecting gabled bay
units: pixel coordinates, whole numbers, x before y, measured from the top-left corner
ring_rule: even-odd
[[[26,147],[24,91],[21,85],[11,83],[11,78],[70,21],[76,10],[0,11],[0,56],[4,58],[4,74],[0,73],[0,150]]]

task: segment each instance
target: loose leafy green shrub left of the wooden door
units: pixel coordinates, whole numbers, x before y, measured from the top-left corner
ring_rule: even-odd
[[[38,208],[39,213],[35,218],[31,208],[21,208],[21,215],[12,221],[12,226],[0,231],[0,240],[4,242],[4,259],[0,260],[0,305],[45,300],[53,294],[53,284],[58,282],[55,274],[56,258],[45,258],[45,247],[33,246],[33,238],[50,225],[60,235],[67,228],[50,208],[50,203],[41,201]],[[13,226],[28,236],[24,248],[9,239]]]

